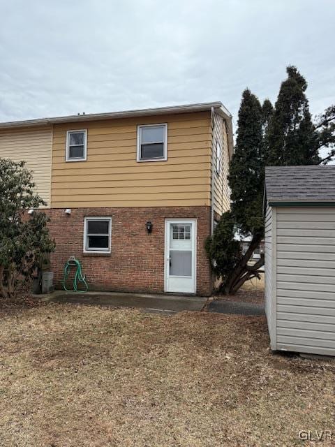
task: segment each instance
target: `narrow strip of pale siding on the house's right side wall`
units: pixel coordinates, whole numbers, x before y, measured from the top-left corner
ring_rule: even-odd
[[[229,153],[228,153],[228,139],[225,121],[221,115],[214,113],[214,128],[213,128],[213,146],[212,146],[212,175],[213,178],[213,205],[214,211],[219,215],[229,210],[230,199],[228,193],[228,168],[229,168]],[[216,143],[221,147],[221,170],[218,174],[216,172]]]

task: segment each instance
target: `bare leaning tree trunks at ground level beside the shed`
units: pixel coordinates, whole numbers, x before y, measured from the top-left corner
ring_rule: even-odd
[[[260,278],[258,269],[264,265],[264,256],[261,255],[260,260],[254,265],[248,265],[248,261],[253,255],[253,251],[255,251],[260,244],[261,240],[262,235],[260,233],[253,235],[253,239],[251,240],[246,254],[242,256],[236,268],[230,273],[225,282],[221,284],[219,292],[223,293],[224,295],[234,295],[249,279],[254,277]]]

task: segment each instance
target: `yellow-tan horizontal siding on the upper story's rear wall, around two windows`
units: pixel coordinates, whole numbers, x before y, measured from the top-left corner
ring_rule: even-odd
[[[137,125],[168,123],[168,160],[137,163]],[[87,129],[87,161],[66,163],[66,131]],[[56,124],[52,207],[210,205],[209,112]]]

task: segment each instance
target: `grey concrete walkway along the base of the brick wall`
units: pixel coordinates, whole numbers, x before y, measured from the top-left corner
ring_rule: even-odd
[[[43,301],[93,306],[137,307],[146,312],[176,314],[183,310],[200,311],[207,298],[188,295],[147,295],[144,293],[54,291],[50,295],[36,295]]]

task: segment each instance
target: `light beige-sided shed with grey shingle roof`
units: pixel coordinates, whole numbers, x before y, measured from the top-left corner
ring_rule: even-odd
[[[271,349],[335,356],[335,166],[265,169]]]

